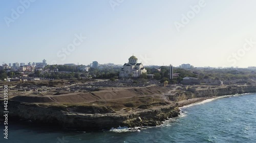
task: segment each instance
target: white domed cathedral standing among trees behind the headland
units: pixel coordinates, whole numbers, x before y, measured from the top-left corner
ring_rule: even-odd
[[[136,56],[129,58],[129,63],[125,63],[123,68],[119,72],[119,77],[140,77],[142,73],[146,73],[146,69],[143,68],[141,63],[137,63]]]

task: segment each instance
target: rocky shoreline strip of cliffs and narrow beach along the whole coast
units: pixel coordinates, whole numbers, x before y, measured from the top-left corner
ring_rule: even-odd
[[[72,111],[70,106],[41,106],[41,104],[24,103],[20,101],[9,100],[9,119],[12,120],[30,120],[34,123],[51,124],[62,127],[62,129],[80,129],[80,130],[109,130],[111,128],[121,127],[142,127],[157,126],[169,118],[179,116],[179,107],[200,102],[209,98],[223,95],[243,93],[256,93],[256,87],[228,87],[214,90],[202,90],[196,92],[185,92],[182,95],[162,95],[168,98],[168,102],[163,105],[152,104],[151,108],[134,109],[132,112],[116,112],[108,107],[93,108],[94,113],[84,113]],[[177,100],[175,102],[170,99]],[[178,98],[179,97],[179,98]],[[182,98],[180,98],[182,97]],[[182,100],[181,100],[182,99]],[[0,109],[3,110],[4,102],[1,102]],[[88,107],[89,108],[89,107]],[[87,108],[86,108],[87,109]],[[100,111],[101,112],[100,112]],[[104,112],[105,111],[105,112]],[[3,114],[3,113],[2,113]],[[1,117],[3,117],[1,115]]]

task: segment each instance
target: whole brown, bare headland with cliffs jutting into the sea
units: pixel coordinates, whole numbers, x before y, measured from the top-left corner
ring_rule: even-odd
[[[80,130],[157,126],[178,117],[181,106],[218,96],[256,92],[253,85],[85,88],[85,84],[99,82],[102,81],[10,84],[9,119]],[[79,88],[79,92],[73,92],[73,88]]]

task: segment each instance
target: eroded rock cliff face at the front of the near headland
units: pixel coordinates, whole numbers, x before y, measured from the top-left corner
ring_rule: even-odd
[[[3,102],[1,102],[2,104]],[[81,113],[70,112],[64,106],[42,107],[33,103],[9,101],[9,119],[25,119],[36,123],[47,123],[63,128],[82,130],[111,129],[119,126],[140,127],[157,126],[168,118],[179,115],[178,104],[171,103],[153,109],[138,109],[133,113]],[[0,105],[0,108],[4,107]],[[1,117],[3,117],[1,115]]]

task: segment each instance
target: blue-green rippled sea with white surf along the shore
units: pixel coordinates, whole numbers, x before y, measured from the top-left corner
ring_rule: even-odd
[[[181,107],[181,115],[157,127],[104,131],[61,130],[30,122],[9,123],[8,139],[1,123],[0,142],[256,142],[256,94],[208,99]]]

